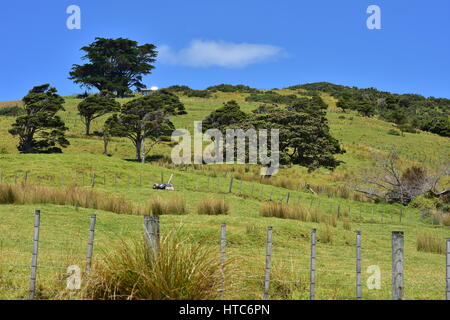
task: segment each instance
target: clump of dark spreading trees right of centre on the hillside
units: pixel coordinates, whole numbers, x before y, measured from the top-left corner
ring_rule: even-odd
[[[263,105],[247,114],[236,101],[229,101],[203,120],[203,130],[279,129],[281,164],[333,170],[341,164],[335,155],[345,150],[330,134],[326,109],[320,97],[313,97],[287,107]]]

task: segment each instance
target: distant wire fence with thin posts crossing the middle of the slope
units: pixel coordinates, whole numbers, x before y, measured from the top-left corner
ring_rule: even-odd
[[[345,217],[352,221],[364,221],[380,224],[432,224],[447,225],[450,220],[443,215],[432,214],[431,210],[419,210],[411,207],[380,205],[369,202],[351,201],[349,199],[334,199],[319,196],[299,190],[289,190],[280,187],[252,183],[238,180],[234,177],[203,176],[191,177],[181,172],[161,171],[160,173],[136,173],[123,172],[85,172],[74,171],[70,174],[48,174],[43,172],[15,171],[0,172],[0,183],[35,183],[54,187],[91,187],[91,188],[120,188],[121,190],[138,188],[148,190],[154,184],[164,184],[169,181],[177,190],[192,192],[206,192],[216,194],[230,194],[245,199],[261,202],[276,202],[290,205],[303,205],[305,207],[319,209],[322,213]],[[110,188],[109,188],[110,189]]]

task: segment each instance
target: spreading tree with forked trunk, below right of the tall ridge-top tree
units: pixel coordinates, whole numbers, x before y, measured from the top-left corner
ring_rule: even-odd
[[[142,161],[144,139],[151,140],[145,152],[148,154],[163,136],[174,130],[170,116],[181,114],[186,114],[186,111],[178,97],[167,90],[160,90],[124,104],[116,120],[110,118],[110,126],[115,128],[114,135],[131,140],[136,148],[136,160]]]

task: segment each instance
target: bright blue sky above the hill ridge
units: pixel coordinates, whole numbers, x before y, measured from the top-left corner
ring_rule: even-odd
[[[69,5],[81,30],[66,27]],[[381,30],[369,30],[369,5]],[[147,86],[257,88],[329,81],[450,98],[448,0],[5,0],[0,7],[0,101],[51,83],[63,95],[79,49],[95,37],[153,43]]]

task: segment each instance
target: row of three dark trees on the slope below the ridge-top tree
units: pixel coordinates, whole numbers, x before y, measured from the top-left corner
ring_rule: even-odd
[[[55,88],[49,84],[36,86],[23,98],[23,102],[24,112],[9,130],[13,136],[18,136],[18,150],[21,153],[61,153],[62,148],[70,145],[65,136],[68,128],[57,114],[64,111],[64,99]],[[86,135],[90,135],[94,119],[111,113],[101,132],[105,142],[104,152],[107,153],[111,137],[126,137],[135,146],[139,161],[161,142],[162,137],[174,130],[170,117],[186,113],[179,98],[166,90],[133,99],[122,106],[104,93],[91,95],[78,105],[78,111],[85,124]],[[145,139],[151,143],[143,152]]]

